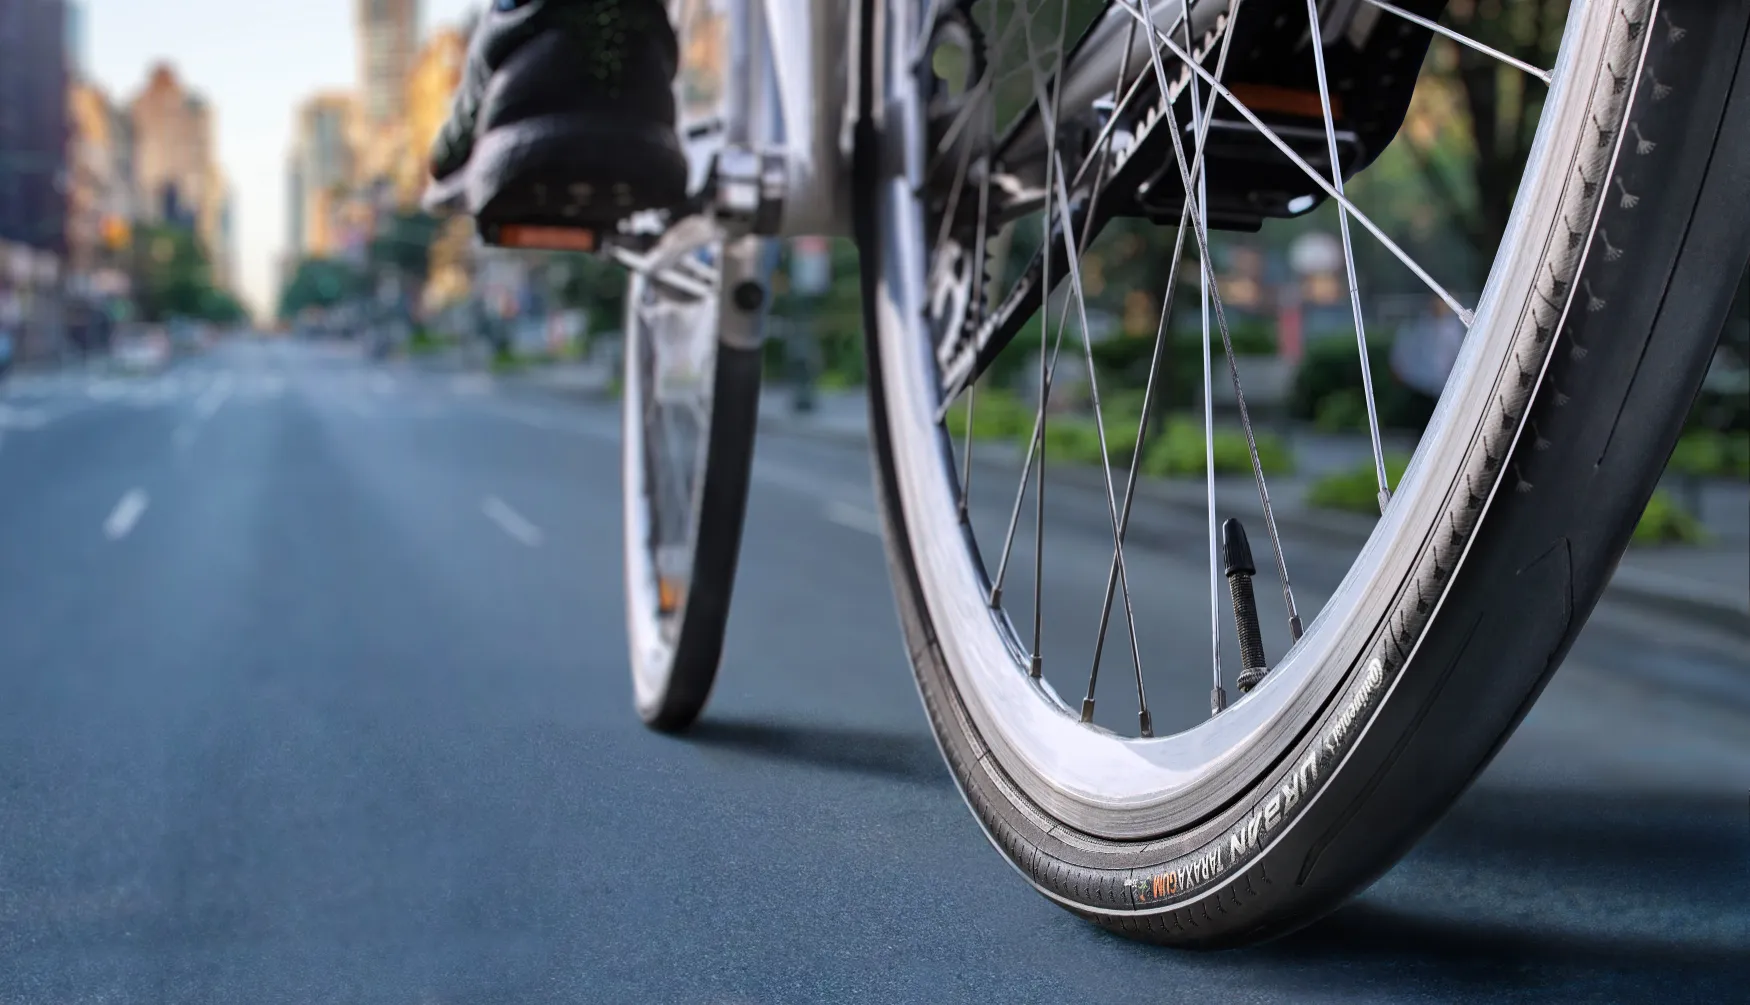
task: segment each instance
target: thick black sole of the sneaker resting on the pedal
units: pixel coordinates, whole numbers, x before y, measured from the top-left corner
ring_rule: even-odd
[[[483,231],[597,229],[686,201],[688,168],[674,130],[562,114],[492,130],[466,175],[466,205]]]

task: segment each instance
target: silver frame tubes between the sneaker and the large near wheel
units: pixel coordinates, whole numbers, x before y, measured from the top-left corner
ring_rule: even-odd
[[[668,7],[682,39],[681,137],[695,187],[733,175],[758,189],[756,201],[775,200],[775,219],[754,228],[765,236],[849,235],[863,2]]]

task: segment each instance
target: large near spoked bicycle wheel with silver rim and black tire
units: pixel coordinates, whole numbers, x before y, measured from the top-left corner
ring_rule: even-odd
[[[1348,177],[1368,161],[1365,149],[1354,152],[1367,147],[1354,142],[1370,128],[1367,89],[1405,70],[1414,77],[1430,47],[1416,18],[1440,18],[1444,4],[1404,4],[1407,12],[1382,4],[1325,7],[1326,16],[1365,11],[1368,26],[1325,25],[1337,44],[1320,46],[1298,4],[1194,0],[1181,19],[1180,4],[1124,0],[1104,5],[1069,46],[1060,26],[1076,25],[1052,0],[891,0],[875,4],[886,18],[877,33],[882,47],[864,51],[866,93],[878,114],[858,161],[872,438],[889,564],[924,706],[990,842],[1040,893],[1102,926],[1176,945],[1237,945],[1309,923],[1396,861],[1482,770],[1606,585],[1704,373],[1731,296],[1722,277],[1738,275],[1750,256],[1743,200],[1750,4],[1575,4],[1566,26],[1556,26],[1563,33],[1554,68],[1530,67],[1549,81],[1536,140],[1480,301],[1474,313],[1458,305],[1468,334],[1446,392],[1390,494],[1372,438],[1382,515],[1304,634],[1288,580],[1293,553],[1278,545],[1253,446],[1248,460],[1276,559],[1260,552],[1258,566],[1278,566],[1270,571],[1283,580],[1292,648],[1272,667],[1258,658],[1256,636],[1241,639],[1242,664],[1232,648],[1222,655],[1216,592],[1227,569],[1211,474],[1211,650],[1186,655],[1200,646],[1178,641],[1167,651],[1143,651],[1136,639],[1148,625],[1138,627],[1146,618],[1130,606],[1129,581],[1146,569],[1141,557],[1124,560],[1136,464],[1129,478],[1110,473],[1108,431],[1096,420],[1108,457],[1106,606],[1082,650],[1090,657],[1041,658],[1040,552],[1031,636],[1017,629],[1027,602],[1012,616],[1003,585],[1008,574],[1012,594],[1026,594],[1010,555],[1029,480],[1052,443],[1045,404],[1057,350],[1046,352],[1046,336],[1054,324],[1062,331],[1062,317],[1087,333],[1080,252],[1104,222],[1097,207],[1110,200],[1120,205],[1115,212],[1134,215],[1148,184],[1174,189],[1176,201],[1164,198],[1153,215],[1169,224],[1176,217],[1181,249],[1204,249],[1214,222],[1241,226],[1250,212],[1290,215],[1340,193],[1332,166],[1342,165]],[[929,14],[936,21],[926,23]],[[1162,30],[1153,46],[1139,26],[1146,18]],[[1248,18],[1262,26],[1228,53]],[[1288,47],[1272,51],[1269,30]],[[1027,44],[1008,68],[998,53],[1003,37]],[[973,58],[943,56],[968,40]],[[1278,77],[1274,89],[1242,88],[1256,82],[1242,70],[1258,51],[1272,72],[1297,77],[1286,84]],[[1181,61],[1188,53],[1199,60],[1195,72]],[[1234,88],[1216,89],[1230,56]],[[1393,70],[1367,65],[1372,58],[1414,61]],[[1342,88],[1337,100],[1323,86],[1325,61]],[[1001,105],[1013,105],[1017,89],[1024,107],[1003,119]],[[1270,102],[1274,112],[1255,114],[1239,95]],[[1354,119],[1334,107],[1348,107]],[[1292,138],[1297,114],[1311,142]],[[1395,131],[1402,105],[1386,119]],[[1220,151],[1209,140],[1211,123],[1227,144]],[[973,133],[984,138],[964,138]],[[1339,151],[1344,133],[1351,147]],[[1278,166],[1290,165],[1304,187],[1279,193],[1281,205],[1264,201],[1270,193],[1250,203],[1230,198],[1218,166],[1248,163],[1232,154],[1237,142],[1281,151],[1270,135],[1290,137],[1284,144],[1298,163],[1283,156]],[[1368,149],[1377,152],[1390,138]],[[1132,163],[1164,145],[1171,149],[1158,165],[1139,172]],[[1356,242],[1390,236],[1363,214],[1365,207],[1339,214],[1351,291],[1349,222],[1370,231]],[[1036,245],[1045,249],[1018,273],[999,261],[1004,242],[1017,257],[1013,245],[1026,236],[1017,219],[1038,224]],[[1172,268],[1178,261],[1176,254]],[[1188,268],[1199,268],[1208,291],[1199,296],[1209,469],[1211,382],[1232,378],[1237,392],[1241,380],[1230,369],[1222,284],[1208,266]],[[1456,303],[1426,270],[1418,275]],[[1062,299],[1048,299],[1059,287]],[[1172,278],[1167,289],[1176,289]],[[1045,312],[1046,303],[1062,306]],[[976,520],[966,517],[971,441],[957,455],[943,420],[956,415],[948,404],[970,376],[999,359],[980,340],[1020,331],[1026,313],[1043,315],[1038,403],[1031,434],[1020,427],[1027,445],[1013,464],[1020,487],[998,490],[1006,536],[980,539]],[[1155,345],[1160,340],[1157,329]],[[1097,401],[1092,338],[1080,343],[1071,355],[1083,355]],[[1358,354],[1362,347],[1358,338]],[[1158,359],[1157,348],[1150,375]],[[1027,366],[1032,382],[1031,359]],[[1358,366],[1368,373],[1363,361]],[[1367,403],[1372,417],[1370,387]],[[976,410],[978,397],[966,408]],[[1242,425],[1250,443],[1250,420]],[[1377,431],[1377,422],[1370,425]],[[1136,434],[1139,457],[1146,425]],[[1034,481],[1032,492],[1029,524],[1043,539],[1043,483]],[[1096,671],[1110,622],[1132,639],[1125,662],[1136,662],[1136,735],[1096,720]],[[1152,735],[1144,662],[1209,681],[1213,688],[1192,693],[1209,693],[1213,711],[1194,709],[1181,716],[1183,728]],[[1265,669],[1262,683],[1227,702],[1234,671],[1250,672],[1253,683]],[[1085,690],[1080,706],[1059,697],[1066,685]],[[1158,702],[1153,714],[1162,714]]]

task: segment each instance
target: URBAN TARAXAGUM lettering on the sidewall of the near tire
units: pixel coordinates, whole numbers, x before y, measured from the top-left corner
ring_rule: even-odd
[[[1325,728],[1325,735],[1309,749],[1288,772],[1276,790],[1264,798],[1244,819],[1234,825],[1225,835],[1202,847],[1195,854],[1174,860],[1166,868],[1150,870],[1136,879],[1129,879],[1130,896],[1138,907],[1148,907],[1162,900],[1176,900],[1209,882],[1220,879],[1236,863],[1244,861],[1264,846],[1290,812],[1300,805],[1312,786],[1323,777],[1344,748],[1360,728],[1362,716],[1372,707],[1374,699],[1386,686],[1386,667],[1374,658],[1367,664],[1367,676],[1362,686],[1349,697],[1342,713]]]

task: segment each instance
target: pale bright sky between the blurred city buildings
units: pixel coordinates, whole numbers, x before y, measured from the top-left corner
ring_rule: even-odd
[[[159,60],[214,107],[219,163],[234,193],[243,299],[266,317],[285,247],[285,156],[296,107],[357,77],[359,0],[75,0],[86,72],[126,103]],[[422,30],[478,0],[424,0]]]

